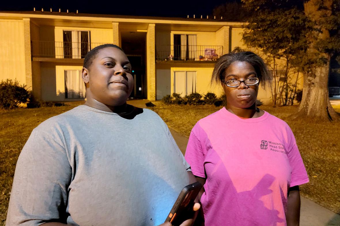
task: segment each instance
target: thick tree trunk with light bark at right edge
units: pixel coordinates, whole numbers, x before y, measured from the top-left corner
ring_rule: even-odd
[[[321,12],[318,9],[319,0],[309,0],[304,3],[305,14],[309,15],[313,20],[318,21],[322,13],[331,13],[330,5],[333,0],[323,0],[329,10]],[[329,11],[329,12],[328,12]],[[328,30],[323,27],[319,34],[319,39],[329,37]],[[314,46],[315,43],[312,43]],[[315,48],[311,47],[310,52],[316,52]],[[304,73],[303,95],[299,106],[298,117],[310,117],[316,120],[340,120],[339,114],[334,111],[330,105],[328,97],[328,73],[330,56],[322,54],[326,59],[324,66],[311,69],[308,73]]]

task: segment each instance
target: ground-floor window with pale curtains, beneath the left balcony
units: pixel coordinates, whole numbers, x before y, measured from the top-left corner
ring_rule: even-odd
[[[85,84],[82,80],[81,70],[65,70],[65,98],[66,99],[84,99]]]

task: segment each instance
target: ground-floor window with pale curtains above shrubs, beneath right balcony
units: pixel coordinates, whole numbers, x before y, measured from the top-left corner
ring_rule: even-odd
[[[174,93],[181,94],[182,97],[196,93],[196,77],[196,71],[174,71]]]

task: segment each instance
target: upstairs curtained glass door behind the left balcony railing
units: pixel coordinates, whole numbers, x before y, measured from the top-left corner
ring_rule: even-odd
[[[64,58],[84,58],[90,49],[90,32],[63,30]]]

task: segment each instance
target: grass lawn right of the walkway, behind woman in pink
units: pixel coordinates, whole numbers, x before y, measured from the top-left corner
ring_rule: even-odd
[[[165,105],[154,102],[152,108],[167,125],[185,137],[189,137],[195,123],[221,107],[214,105]],[[314,202],[336,212],[340,212],[340,142],[335,135],[340,134],[340,122],[313,122],[293,120],[291,114],[298,106],[272,107],[261,109],[283,119],[291,127],[301,156],[306,166],[310,182],[300,187],[301,194]],[[334,107],[340,113],[340,105]]]

